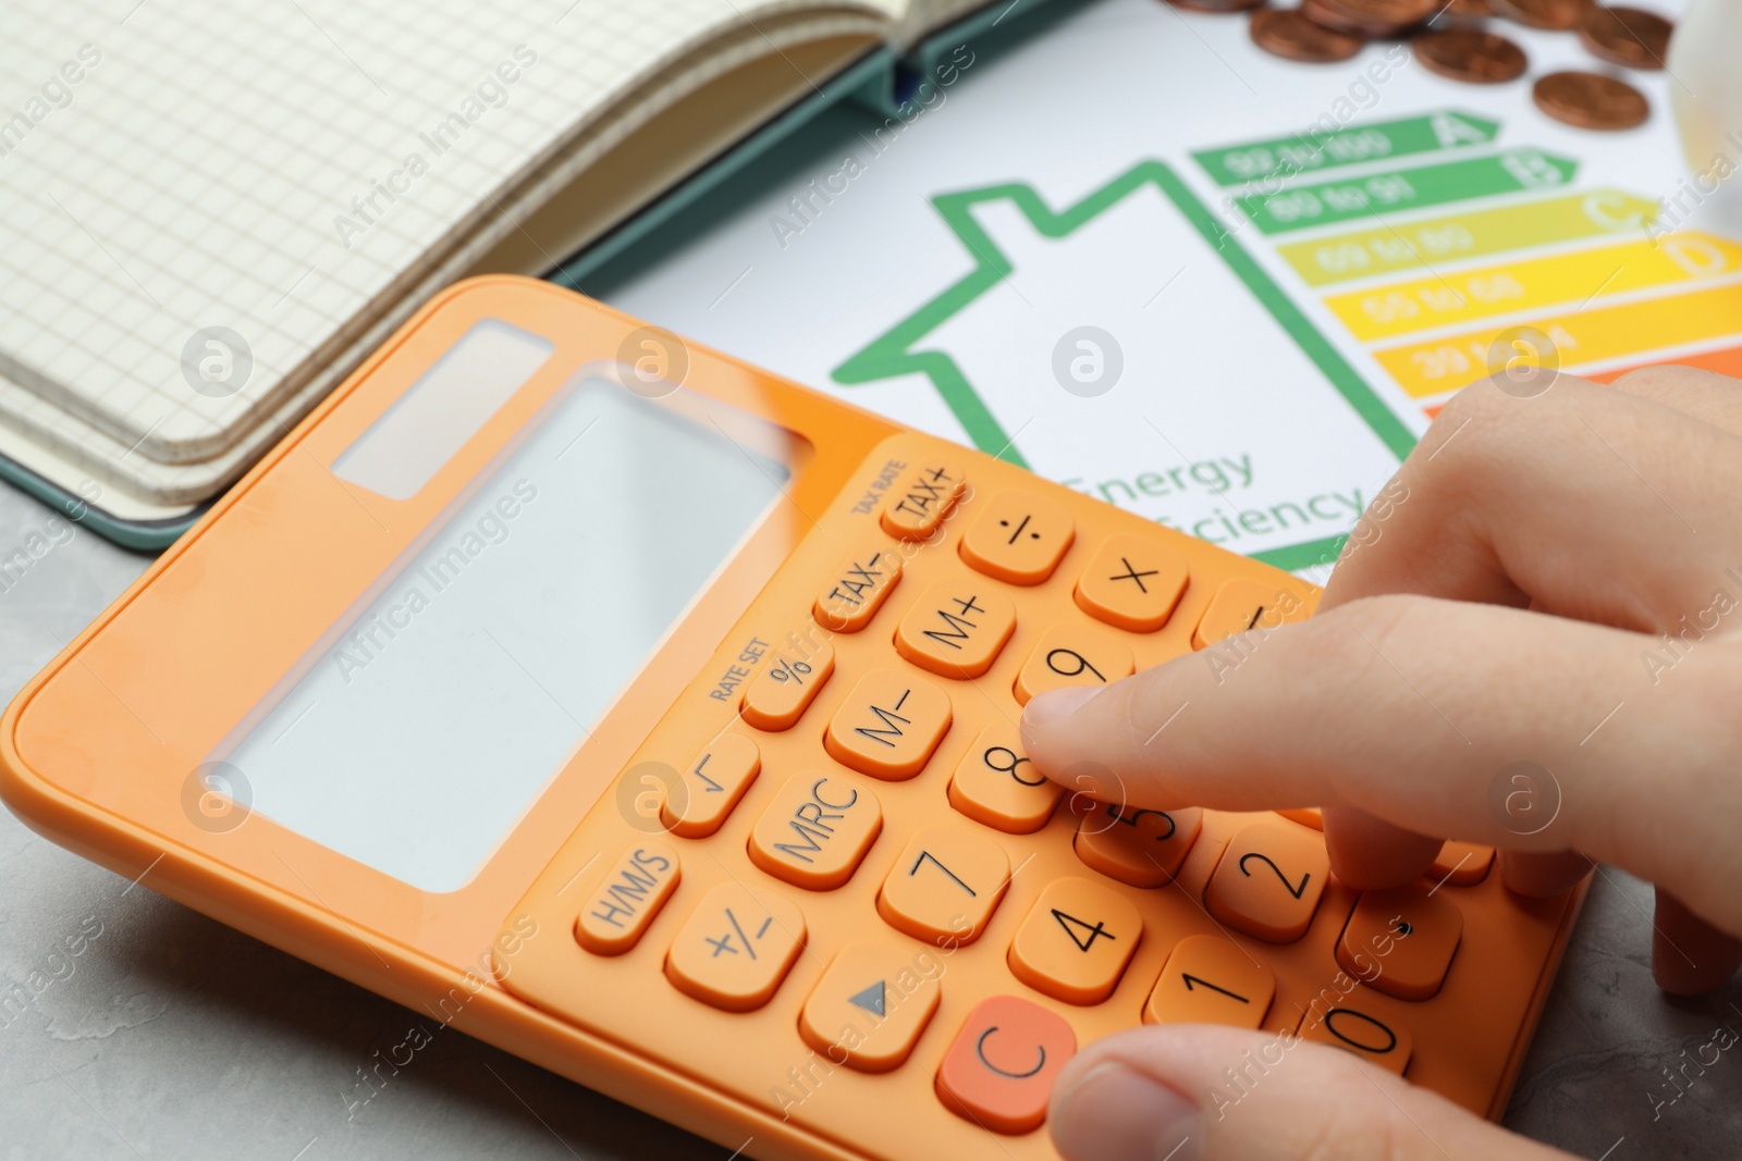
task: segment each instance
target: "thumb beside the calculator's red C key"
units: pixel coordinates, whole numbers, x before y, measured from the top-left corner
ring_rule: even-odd
[[[1207,1023],[1085,1048],[1049,1124],[1066,1161],[1571,1161],[1340,1048]]]

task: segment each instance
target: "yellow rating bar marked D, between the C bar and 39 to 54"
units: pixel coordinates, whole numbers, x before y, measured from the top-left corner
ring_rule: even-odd
[[[1705,233],[1521,258],[1477,270],[1331,294],[1326,306],[1357,339],[1374,341],[1603,294],[1721,279],[1742,270],[1742,245]]]

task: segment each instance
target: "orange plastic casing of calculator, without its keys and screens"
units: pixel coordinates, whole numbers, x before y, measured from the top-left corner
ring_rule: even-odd
[[[552,357],[409,500],[387,500],[340,480],[331,472],[336,458],[462,334],[486,319],[510,320],[549,338],[556,345]],[[221,923],[726,1147],[739,1147],[751,1138],[753,1144],[746,1151],[749,1156],[770,1161],[939,1156],[934,1151],[942,1140],[920,1137],[922,1126],[932,1123],[935,1112],[930,1104],[927,1112],[915,1119],[911,1130],[915,1138],[906,1145],[901,1145],[899,1138],[908,1130],[897,1123],[901,1117],[890,1117],[887,1109],[874,1119],[887,1124],[894,1137],[880,1145],[861,1145],[857,1133],[845,1126],[841,1131],[831,1131],[827,1124],[810,1117],[782,1119],[766,1102],[733,1091],[726,1077],[704,1069],[679,1067],[671,1053],[646,1051],[636,1043],[634,1034],[611,1036],[589,1030],[584,1022],[563,1018],[549,1006],[535,1006],[517,997],[496,978],[502,961],[514,959],[505,952],[519,950],[503,947],[503,940],[509,938],[505,931],[512,931],[510,917],[537,912],[549,903],[554,891],[542,886],[547,881],[542,877],[561,869],[561,858],[578,849],[575,844],[582,832],[591,827],[606,837],[618,834],[632,837],[632,832],[620,829],[615,811],[594,808],[601,804],[601,795],[613,787],[620,771],[646,752],[648,740],[662,729],[671,736],[700,740],[718,731],[721,722],[700,719],[672,726],[674,715],[681,717],[674,708],[679,693],[699,674],[712,672],[721,658],[730,658],[742,632],[740,618],[768,581],[777,578],[800,543],[817,531],[817,520],[827,524],[827,513],[840,512],[843,503],[852,503],[868,456],[892,439],[913,440],[916,447],[941,446],[939,440],[908,433],[887,419],[726,355],[686,345],[685,393],[693,393],[709,406],[758,418],[796,437],[789,454],[793,479],[782,489],[773,512],[746,540],[732,567],[721,569],[714,583],[688,607],[537,802],[521,815],[463,888],[449,893],[420,891],[267,816],[253,815],[246,825],[221,830],[199,825],[197,813],[188,809],[192,771],[206,762],[225,738],[235,736],[237,729],[258,719],[261,707],[272,703],[273,691],[284,686],[286,677],[294,675],[300,665],[307,665],[307,658],[322,642],[333,641],[336,627],[341,627],[359,602],[376,590],[383,573],[422,543],[420,536],[430,524],[449,512],[467,494],[469,484],[505,454],[540,409],[571,381],[577,369],[615,366],[625,341],[641,331],[643,324],[634,319],[526,279],[476,279],[437,296],[267,454],[113,606],[78,634],[12,701],[0,719],[0,797],[33,829],[122,876],[141,877],[152,889]],[[963,463],[972,465],[970,473],[1003,473],[1000,479],[1019,479],[1017,470],[1009,465],[995,463],[977,453],[956,451]],[[1052,486],[1036,480],[1035,487]],[[1144,522],[1136,517],[1077,500],[1087,513],[1078,515],[1078,536],[1087,545],[1080,552],[1087,552],[1110,533],[1144,529]],[[1101,527],[1090,527],[1085,520]],[[1148,527],[1153,531],[1153,526]],[[808,557],[822,560],[834,554],[836,547],[847,552],[854,541],[848,536],[838,545],[817,547],[812,540],[807,552]],[[1212,550],[1205,547],[1204,552]],[[1259,569],[1237,562],[1228,554],[1216,554],[1209,567],[1212,578]],[[911,595],[920,592],[927,580],[923,569],[916,569],[901,581],[901,588]],[[798,594],[803,585],[791,581],[786,588]],[[814,588],[805,592],[814,594]],[[1061,573],[1042,585],[1035,599],[1052,601],[1056,607],[1068,611],[1075,607],[1070,592],[1071,578]],[[901,594],[897,602],[899,599]],[[805,595],[794,602],[793,616],[805,616],[808,601]],[[1207,592],[1188,590],[1181,609],[1190,606],[1200,613],[1205,601]],[[895,613],[883,616],[894,625]],[[1019,654],[1028,648],[1024,641],[1030,639],[1023,639],[1023,632],[1026,630],[1017,630],[1019,641],[1012,642],[993,670],[1000,681],[1010,679],[1012,667],[1021,661]],[[1186,648],[1181,642],[1188,632],[1190,625],[1181,621],[1178,628],[1181,637],[1167,648],[1176,651]],[[1167,628],[1162,634],[1172,639],[1176,630]],[[881,649],[878,656],[895,656],[887,641],[876,648]],[[843,667],[855,658],[871,656],[871,635],[854,637],[843,642],[841,649]],[[1160,656],[1164,654],[1146,656],[1139,651],[1138,663],[1155,663]],[[831,689],[824,691],[824,698],[838,701],[855,677],[852,672],[838,674]],[[958,701],[962,707],[972,705],[970,700]],[[948,778],[948,769],[962,759],[963,745],[984,726],[981,719],[988,719],[984,708],[963,715],[953,726],[946,748],[932,762],[935,768],[944,768],[939,778]],[[779,755],[782,747],[800,745],[815,750],[815,761],[824,761],[820,724],[822,719],[817,717],[814,736],[805,740],[798,736],[800,731],[780,735],[777,745],[765,748],[765,764],[770,761],[768,755]],[[732,842],[742,844],[742,829],[761,809],[758,795],[772,795],[786,780],[786,769],[791,769],[791,764],[779,773],[763,771],[730,822],[730,827],[735,827],[730,830]],[[876,882],[887,870],[883,863],[911,834],[909,823],[935,816],[941,822],[976,825],[949,809],[941,783],[935,789],[935,806],[920,806],[918,799],[902,797],[916,794],[908,787],[911,783],[878,785],[878,792],[885,794],[890,820],[904,822],[878,839],[868,865],[854,884],[843,889],[841,898],[857,900],[855,905],[866,903],[862,923],[874,924],[878,919],[874,909],[859,900],[859,895],[874,893]],[[1205,834],[1225,837],[1239,816],[1207,813]],[[1033,882],[1021,877],[1012,882],[1009,898],[976,945],[986,949],[981,957],[984,970],[972,966],[981,959],[963,956],[965,982],[976,982],[979,975],[991,978],[991,973],[1003,971],[1003,947],[1049,876],[1092,874],[1071,855],[1070,834],[1075,825],[1075,818],[1061,809],[1033,836],[1035,842],[1052,844],[1047,848],[1050,853],[1036,863]],[[678,837],[658,837],[662,842],[686,842]],[[610,841],[617,842],[615,837]],[[700,842],[707,841],[711,839]],[[1021,841],[1028,842],[1026,837]],[[620,849],[618,844],[611,856]],[[1181,876],[1197,874],[1198,886],[1214,865],[1209,844],[1204,844],[1204,849],[1207,853],[1198,858],[1204,865],[1188,860],[1188,870],[1181,870]],[[742,846],[737,848],[737,855],[742,856]],[[692,886],[686,877],[676,888],[679,898],[693,898],[702,889],[707,874],[700,872],[706,865],[704,858],[690,860],[686,876],[693,867],[699,872],[697,884]],[[540,886],[535,889],[535,884]],[[1477,898],[1475,893],[1484,893],[1481,907],[1491,912],[1491,921],[1475,923],[1472,928],[1488,935],[1503,933],[1507,923],[1493,919],[1507,919],[1514,912],[1505,910],[1509,905],[1498,898],[1498,884],[1489,881],[1470,891],[1472,900]],[[819,914],[815,924],[819,931],[827,931],[831,924],[834,928],[847,924],[840,917],[824,917],[834,893],[812,895],[793,889],[784,893],[801,896],[800,902]],[[1333,882],[1327,888],[1327,900],[1334,898],[1343,914],[1354,907],[1354,891],[1341,884]],[[1575,895],[1554,907],[1542,905],[1529,914],[1517,912],[1519,929],[1529,928],[1535,933],[1531,947],[1536,950],[1528,956],[1521,952],[1519,963],[1512,964],[1516,978],[1510,987],[1519,992],[1519,1003],[1514,1006],[1517,1018],[1500,1032],[1503,1037],[1496,1057],[1500,1067],[1484,1077],[1479,1091],[1472,1090],[1474,1095],[1462,1097],[1479,1112],[1498,1116],[1503,1109],[1554,966],[1564,949],[1577,903]],[[645,942],[645,949],[611,961],[585,959],[589,952],[571,933],[547,919],[549,929],[540,935],[528,956],[528,980],[561,978],[561,973],[571,971],[575,964],[587,964],[587,971],[599,971],[601,978],[611,971],[643,968],[657,973],[655,943],[658,938],[669,938],[671,929],[683,919],[679,912],[681,907],[658,921],[662,926]],[[883,935],[899,938],[890,931]],[[1312,954],[1322,954],[1327,971],[1334,970],[1334,964],[1331,943],[1326,940],[1334,942],[1334,936],[1336,931],[1327,931],[1319,940],[1324,947],[1312,949]],[[1503,942],[1502,938],[1500,943]],[[1111,1001],[1120,1006],[1118,1022],[1138,1022],[1148,983],[1153,982],[1167,950],[1169,945],[1162,940],[1139,949],[1131,982],[1122,983]],[[1279,954],[1287,959],[1291,954],[1305,956],[1306,949],[1279,949]],[[1505,947],[1484,954],[1500,966],[1509,956]],[[1138,964],[1141,973],[1148,973],[1148,980],[1139,980]],[[794,980],[786,985],[793,992],[791,999],[782,994],[766,1013],[728,1017],[709,1011],[704,1013],[706,1025],[726,1029],[732,1027],[730,1020],[786,1022],[807,987],[796,976],[808,975],[814,980],[817,971],[819,968],[807,964],[796,968]],[[657,980],[657,985],[671,990],[664,980]],[[1014,985],[1000,987],[1010,990]],[[676,992],[671,996],[676,997]],[[927,1039],[915,1053],[916,1060],[906,1065],[909,1072],[922,1057],[928,1062],[927,1067],[941,1060],[955,1027],[962,1022],[962,1013],[977,999],[981,999],[977,994],[946,997],[934,1020],[935,1027],[927,1032]],[[610,996],[598,999],[601,1006],[611,1003]],[[1061,1004],[1050,1006],[1068,1011]],[[655,1023],[669,1020],[665,1011],[650,1013],[646,1018]],[[1481,1020],[1474,1011],[1462,1015]],[[801,1053],[796,1023],[793,1020],[786,1030],[793,1036],[793,1051]],[[1103,1023],[1099,1017],[1090,1020],[1094,1027],[1099,1023]],[[1113,1023],[1106,1027],[1111,1029]],[[923,1091],[930,1100],[928,1079],[902,1079],[904,1070],[895,1070],[888,1077],[883,1083],[915,1084],[913,1091]],[[857,1076],[843,1079],[838,1086],[840,1098],[847,1100],[861,1083],[871,1081]],[[901,1091],[904,1098],[909,1095],[904,1088],[885,1091]],[[962,1144],[984,1151],[986,1156],[1005,1152],[1021,1158],[1052,1156],[1043,1131],[1023,1138],[993,1138],[965,1121],[951,1124],[955,1128],[946,1130],[946,1137],[965,1133]]]

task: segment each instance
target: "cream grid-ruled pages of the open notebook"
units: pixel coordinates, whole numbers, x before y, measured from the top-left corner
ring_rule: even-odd
[[[453,279],[556,266],[979,3],[14,0],[0,454],[197,505]]]

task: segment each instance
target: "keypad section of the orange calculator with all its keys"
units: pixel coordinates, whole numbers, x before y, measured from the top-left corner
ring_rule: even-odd
[[[1317,809],[1096,801],[1023,748],[1035,693],[1313,590],[923,437],[861,479],[540,876],[523,909],[564,935],[503,987],[876,1161],[988,1131],[1056,1161],[1057,1070],[1143,1022],[1298,1032],[1489,1109],[1564,914],[1489,848],[1361,895]]]

